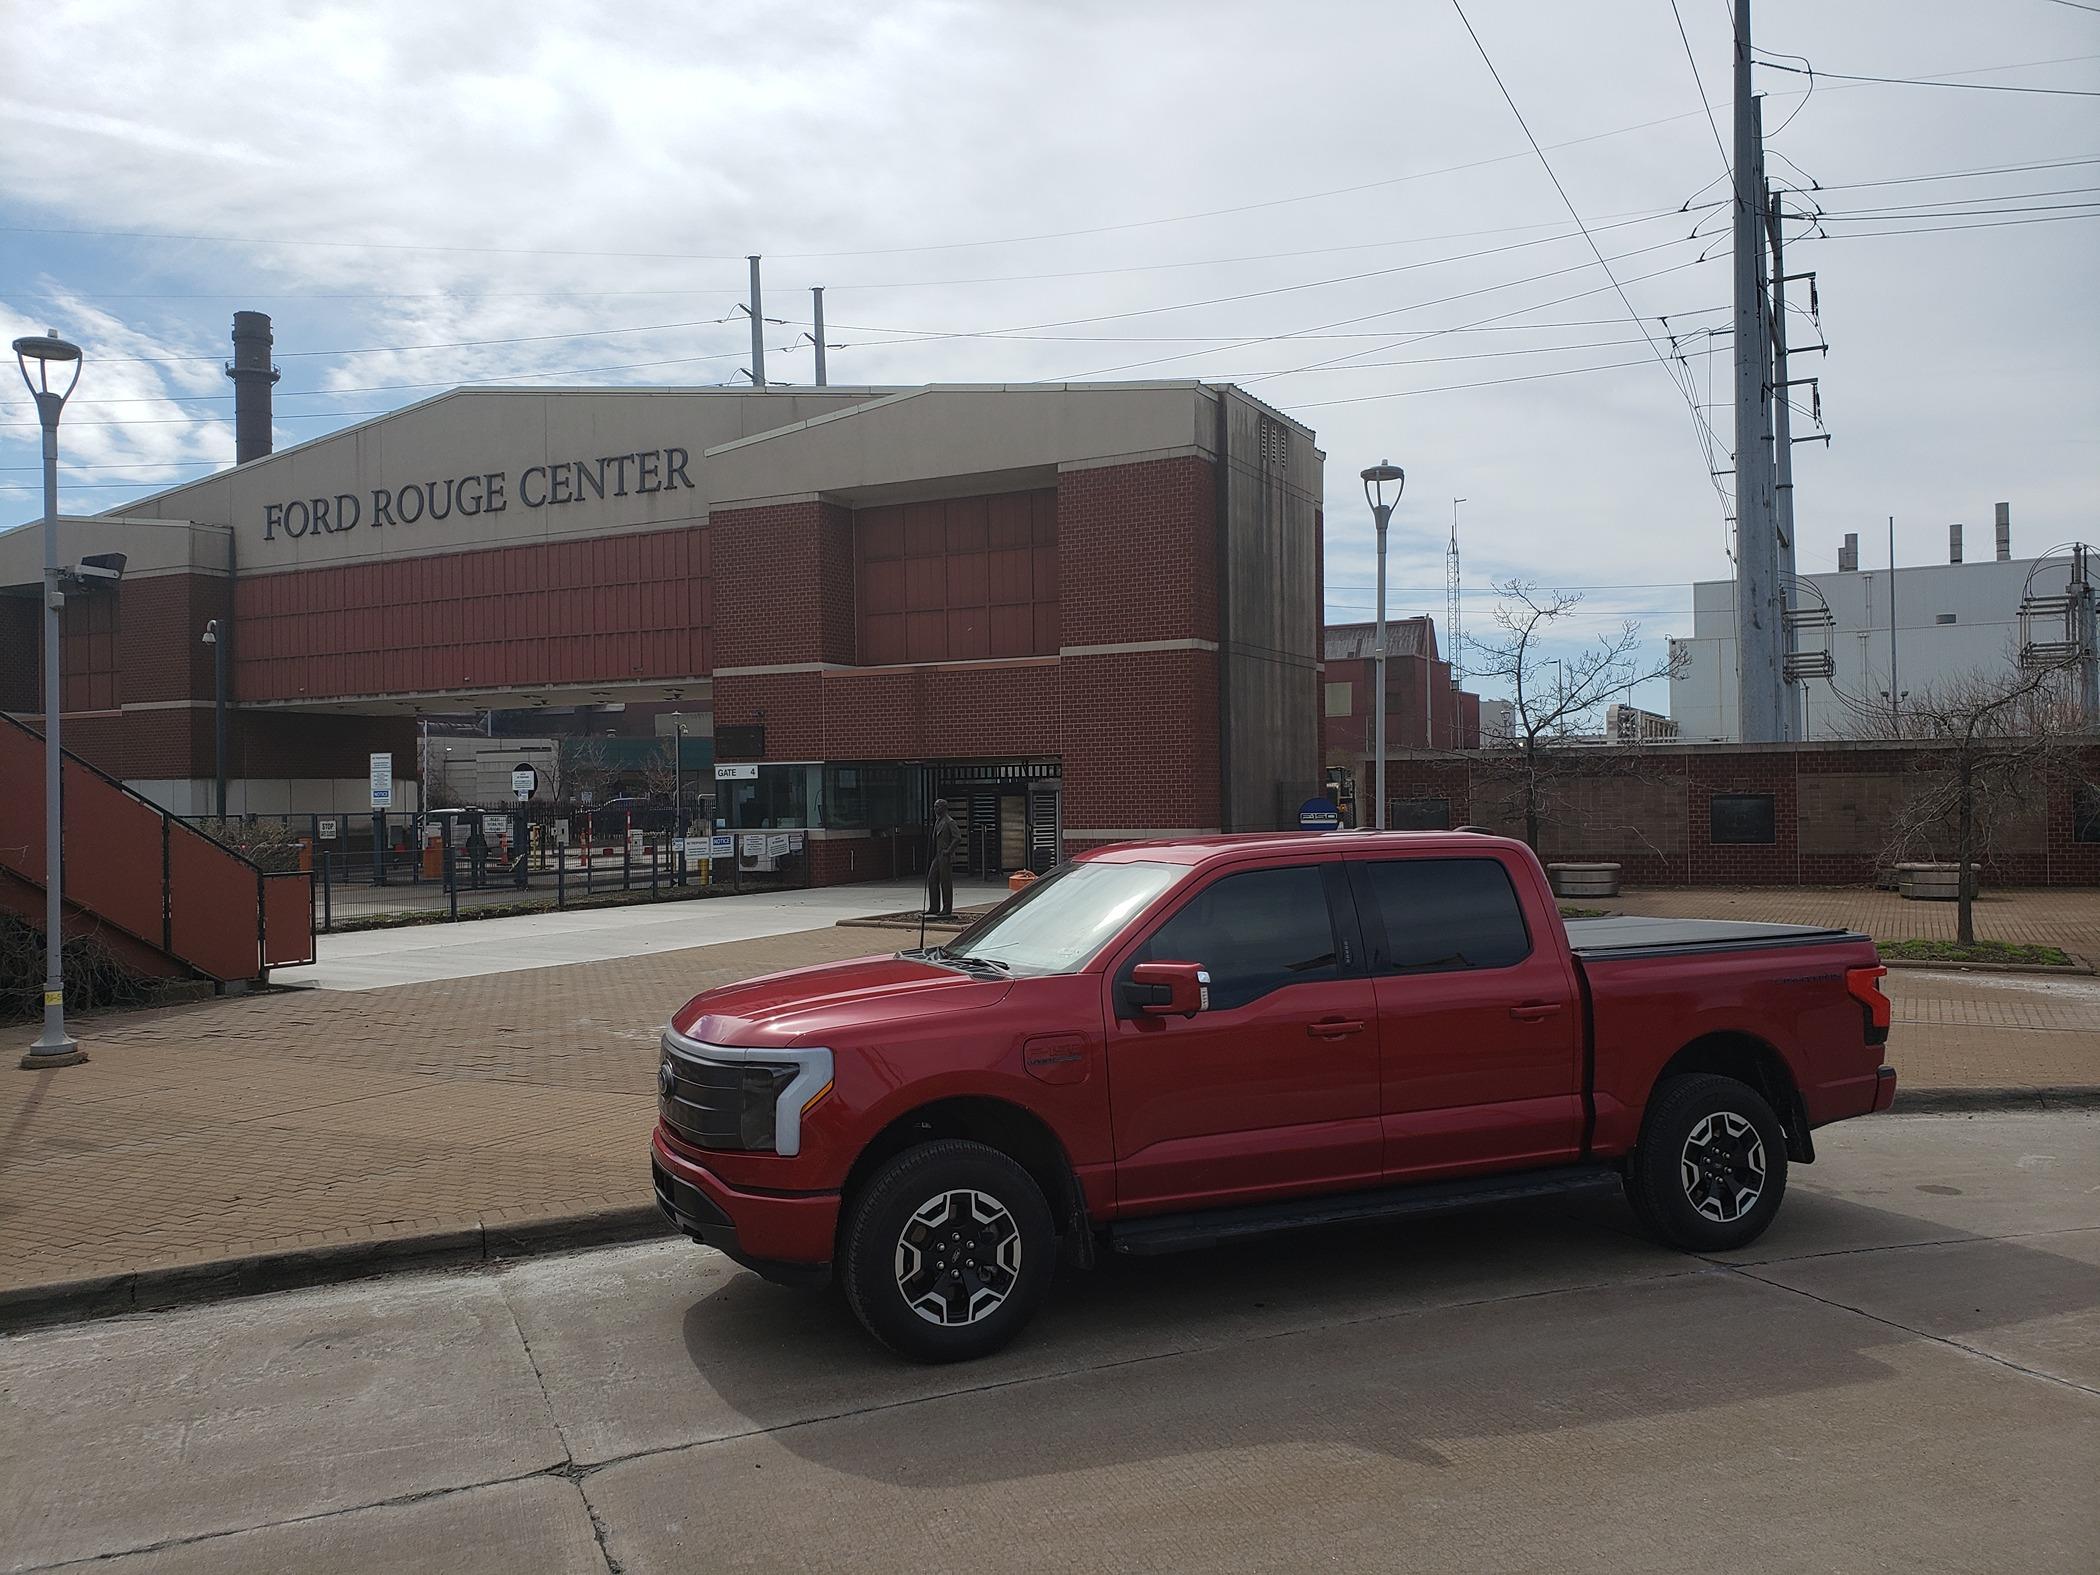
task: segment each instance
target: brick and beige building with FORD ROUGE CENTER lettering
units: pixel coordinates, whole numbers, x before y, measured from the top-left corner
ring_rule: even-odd
[[[416,718],[676,706],[724,825],[890,874],[1266,830],[1319,785],[1321,464],[1231,386],[460,388],[113,514],[63,622],[65,741],[176,813],[414,806]],[[0,536],[0,710],[38,710],[36,527]],[[712,718],[712,720],[710,720]]]

